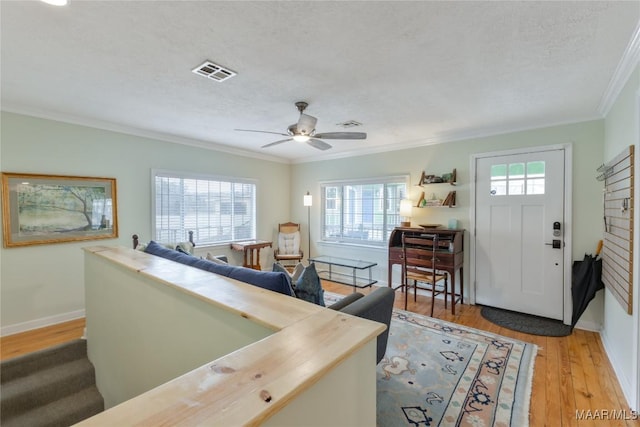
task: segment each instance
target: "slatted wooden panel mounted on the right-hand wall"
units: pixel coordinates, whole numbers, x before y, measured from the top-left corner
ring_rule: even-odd
[[[602,281],[628,314],[633,313],[634,147],[598,168],[604,181]]]

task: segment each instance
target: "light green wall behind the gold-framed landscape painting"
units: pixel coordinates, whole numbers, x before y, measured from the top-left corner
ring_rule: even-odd
[[[0,169],[5,172],[104,176],[117,179],[119,235],[103,240],[130,247],[131,235],[151,238],[151,169],[169,169],[258,181],[259,239],[271,240],[277,224],[289,219],[290,167],[217,151],[2,113]],[[0,249],[0,299],[3,334],[7,327],[82,315],[83,246],[63,243]],[[227,247],[210,249],[228,253]],[[263,250],[263,265],[271,257]],[[238,253],[230,254],[241,264]]]

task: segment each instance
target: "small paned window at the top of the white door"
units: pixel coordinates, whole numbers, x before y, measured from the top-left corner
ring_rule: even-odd
[[[491,195],[544,194],[545,162],[509,163],[491,166]]]

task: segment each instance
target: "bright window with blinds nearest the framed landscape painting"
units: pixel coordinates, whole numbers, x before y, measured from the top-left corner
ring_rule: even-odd
[[[154,171],[153,232],[199,245],[256,238],[256,185],[249,180]]]

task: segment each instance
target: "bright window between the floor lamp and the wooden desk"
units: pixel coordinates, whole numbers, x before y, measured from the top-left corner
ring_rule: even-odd
[[[400,200],[407,177],[325,183],[322,194],[322,239],[374,246],[386,245],[400,225]]]

